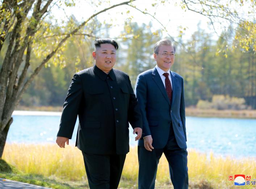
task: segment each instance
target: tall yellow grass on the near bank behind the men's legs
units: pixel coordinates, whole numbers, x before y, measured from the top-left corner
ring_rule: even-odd
[[[54,180],[64,188],[88,187],[82,154],[74,146],[67,146],[65,149],[61,149],[57,145],[50,144],[6,144],[3,159],[21,171],[23,176],[40,175],[42,178],[50,179],[49,182]],[[228,176],[245,174],[251,175],[252,179],[256,179],[255,164],[255,158],[231,159],[214,157],[213,154],[207,157],[206,154],[189,150],[188,170],[190,188],[235,188],[234,183],[228,181]],[[9,178],[13,176],[15,180],[15,174],[16,177],[21,175],[21,173],[5,175]],[[3,177],[4,175],[0,176]],[[119,185],[120,188],[137,188],[137,178],[137,147],[133,147],[130,153],[127,154]],[[40,179],[39,176],[38,179]],[[57,186],[51,187],[58,188]],[[156,188],[171,188],[168,164],[164,157],[161,158],[159,163]],[[249,185],[244,188],[253,187]]]

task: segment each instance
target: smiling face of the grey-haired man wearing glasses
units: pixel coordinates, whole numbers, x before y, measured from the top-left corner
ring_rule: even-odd
[[[172,46],[160,46],[158,49],[158,53],[154,53],[154,58],[158,67],[167,72],[174,63],[174,54],[175,52]]]

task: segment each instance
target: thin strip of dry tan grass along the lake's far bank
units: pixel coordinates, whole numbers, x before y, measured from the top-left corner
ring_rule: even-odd
[[[18,106],[16,110],[26,111],[62,111],[62,106]],[[219,117],[219,118],[250,118],[256,119],[256,110],[203,110],[186,107],[186,116],[193,117]]]

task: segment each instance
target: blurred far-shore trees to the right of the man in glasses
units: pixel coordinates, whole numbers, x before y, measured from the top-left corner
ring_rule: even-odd
[[[227,48],[230,44],[239,43],[232,27],[213,41],[211,34],[198,25],[198,31],[194,32],[191,40],[183,43],[184,46],[181,43],[177,45],[173,71],[184,77],[187,106],[222,94],[244,98],[247,105],[256,108],[256,102],[251,100],[256,99],[255,53],[252,48],[248,52]]]

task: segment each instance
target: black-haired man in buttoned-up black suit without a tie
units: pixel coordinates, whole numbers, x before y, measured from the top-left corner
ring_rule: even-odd
[[[77,72],[68,89],[56,143],[68,145],[77,115],[76,146],[82,151],[89,187],[116,189],[129,152],[129,123],[142,135],[142,118],[129,76],[112,69],[118,44],[95,40],[95,65]]]

